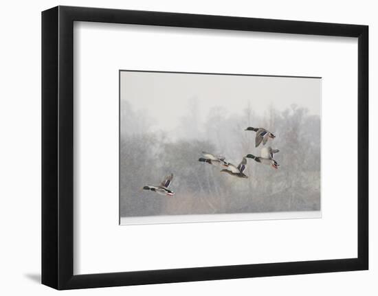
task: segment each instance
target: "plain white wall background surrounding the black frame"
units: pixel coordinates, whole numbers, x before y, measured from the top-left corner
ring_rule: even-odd
[[[41,11],[54,5],[159,10],[270,19],[359,23],[370,26],[370,152],[378,105],[374,102],[378,61],[374,1],[7,1],[2,3],[0,291],[4,295],[58,293],[39,284],[41,266]],[[370,271],[263,277],[69,291],[82,295],[377,295],[378,218],[373,184],[378,159],[370,153]],[[5,294],[7,293],[7,294]],[[22,295],[22,294],[21,294]]]

